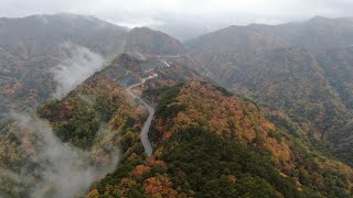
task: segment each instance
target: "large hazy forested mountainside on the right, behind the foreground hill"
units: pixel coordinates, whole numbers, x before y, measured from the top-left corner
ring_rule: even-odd
[[[186,43],[212,77],[235,94],[284,111],[352,164],[352,19],[229,26]],[[338,135],[341,134],[341,135]],[[336,150],[336,151],[335,151]]]

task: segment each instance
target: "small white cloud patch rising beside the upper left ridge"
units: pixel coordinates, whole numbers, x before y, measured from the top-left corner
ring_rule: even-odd
[[[64,45],[69,53],[52,69],[57,84],[54,97],[58,99],[105,66],[105,59],[99,54],[83,46]]]

